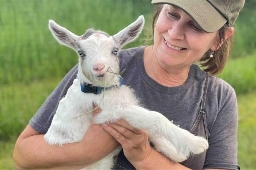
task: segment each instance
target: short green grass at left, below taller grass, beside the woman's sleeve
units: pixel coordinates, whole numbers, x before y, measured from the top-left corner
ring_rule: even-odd
[[[60,79],[15,83],[0,88],[0,141],[16,137]]]

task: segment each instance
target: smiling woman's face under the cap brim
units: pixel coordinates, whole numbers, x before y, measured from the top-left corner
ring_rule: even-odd
[[[164,70],[182,72],[184,77],[188,75],[190,65],[209,49],[216,51],[217,32],[206,33],[195,29],[195,25],[195,21],[181,9],[164,5],[156,22],[152,51],[152,58],[155,59],[152,62],[159,63]],[[184,80],[186,76],[181,83]]]

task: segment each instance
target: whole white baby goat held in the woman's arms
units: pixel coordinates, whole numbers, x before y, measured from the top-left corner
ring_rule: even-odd
[[[146,130],[155,149],[174,162],[184,161],[190,154],[199,154],[208,148],[206,139],[179,128],[158,112],[142,108],[133,90],[120,85],[118,53],[138,37],[143,26],[144,17],[140,16],[114,36],[92,29],[77,36],[49,20],[49,29],[57,41],[78,53],[79,67],[77,79],[60,100],[44,137],[48,143],[62,145],[81,141],[93,118],[93,104],[97,104],[102,112],[93,119],[95,123],[124,119],[131,126]],[[99,90],[106,87],[106,90],[99,94],[81,91],[94,86]],[[120,150],[118,147],[90,165],[90,169],[111,169],[113,157]]]

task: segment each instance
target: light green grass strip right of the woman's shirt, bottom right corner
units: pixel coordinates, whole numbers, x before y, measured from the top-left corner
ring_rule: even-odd
[[[238,96],[238,160],[241,169],[256,169],[256,91]]]

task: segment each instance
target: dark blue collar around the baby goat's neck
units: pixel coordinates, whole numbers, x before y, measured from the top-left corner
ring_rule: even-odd
[[[81,91],[84,93],[94,93],[94,94],[100,94],[102,89],[104,89],[104,87],[100,87],[100,86],[93,86],[92,84],[88,84],[88,83],[80,83],[81,85]],[[119,81],[119,86],[123,85],[123,78],[120,78]],[[111,86],[113,87],[113,86]],[[108,87],[106,89],[110,89],[111,87]]]

